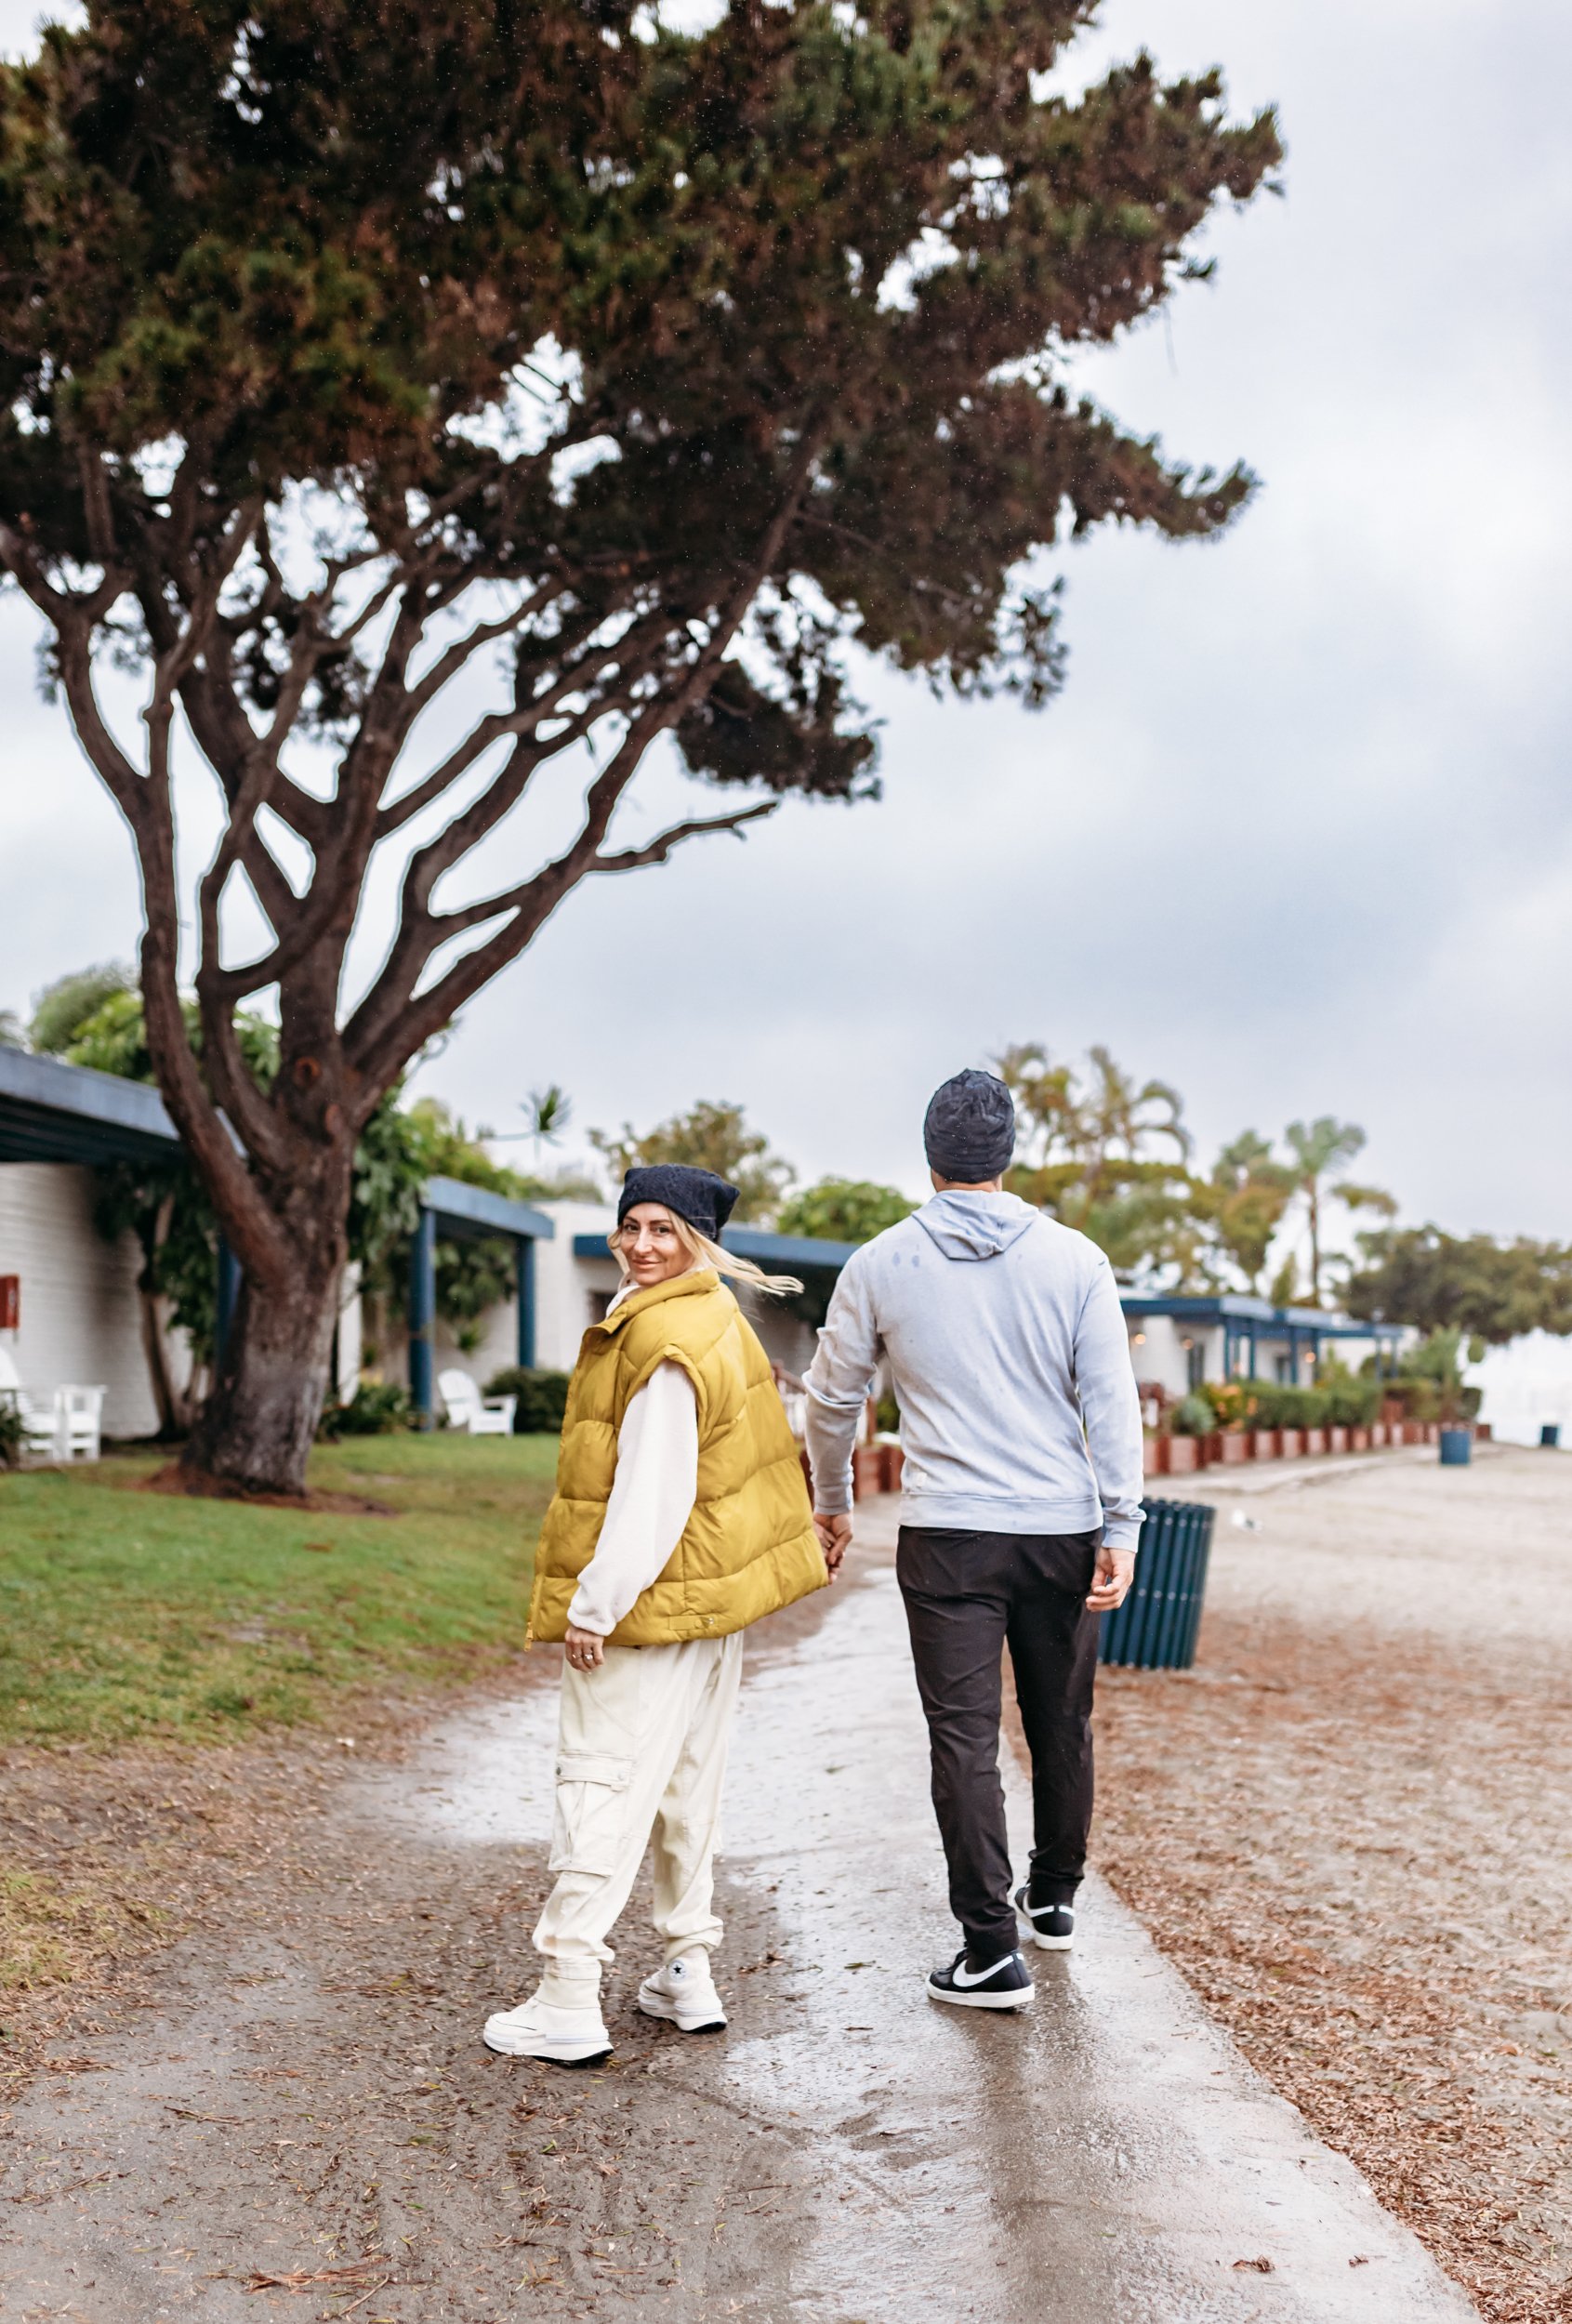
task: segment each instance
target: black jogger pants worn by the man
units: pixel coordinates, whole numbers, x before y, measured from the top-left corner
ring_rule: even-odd
[[[1098,1671],[1098,1615],[1086,1592],[1098,1541],[1095,1532],[900,1529],[895,1576],[928,1713],[949,1903],[974,1959],[998,1959],[1019,1941],[1000,1783],[1005,1645],[1032,1755],[1032,1901],[1070,1903],[1086,1868]]]

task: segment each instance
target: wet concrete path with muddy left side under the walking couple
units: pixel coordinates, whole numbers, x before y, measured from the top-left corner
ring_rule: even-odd
[[[726,2038],[628,2008],[649,1954],[635,1894],[609,2068],[479,2047],[523,1989],[546,1882],[540,1685],[349,1780],[309,1882],[188,1938],[156,2008],[91,2040],[95,2071],[16,2110],[0,2312],[1472,2317],[1100,1885],[1077,1952],[1032,1957],[1032,2013],[926,2001],[951,1936],[884,1532],[744,1683]]]

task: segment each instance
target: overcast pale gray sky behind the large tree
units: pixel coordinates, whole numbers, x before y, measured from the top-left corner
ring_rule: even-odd
[[[33,14],[0,0],[9,49]],[[1142,42],[1281,105],[1288,198],[1079,376],[1258,502],[1074,548],[1046,713],[863,672],[884,804],[581,890],[423,1074],[470,1120],[549,1078],[579,1125],[735,1097],[802,1176],[916,1188],[937,1078],[1109,1041],[1207,1148],[1330,1111],[1407,1215],[1572,1234],[1567,12],[1109,0],[1081,70]],[[0,1006],[137,934],[33,653],[12,595]]]

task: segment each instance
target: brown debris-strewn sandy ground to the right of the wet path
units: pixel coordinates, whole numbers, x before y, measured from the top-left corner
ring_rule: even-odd
[[[1572,1459],[1253,1483],[1198,1669],[1102,1673],[1095,1862],[1493,2324],[1567,2319]]]

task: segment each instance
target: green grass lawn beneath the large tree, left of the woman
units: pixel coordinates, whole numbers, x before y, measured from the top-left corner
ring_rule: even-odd
[[[163,1457],[0,1476],[0,1743],[233,1741],[523,1645],[553,1436],[363,1436],[312,1485],[391,1518],[133,1490]]]

